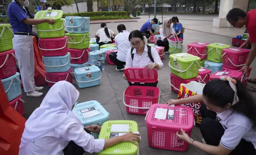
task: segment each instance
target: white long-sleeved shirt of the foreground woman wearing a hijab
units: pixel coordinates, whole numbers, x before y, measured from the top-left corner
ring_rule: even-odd
[[[95,140],[76,119],[69,117],[58,128],[19,148],[19,155],[64,155],[63,149],[70,141],[89,153],[100,152],[105,145],[104,139]]]

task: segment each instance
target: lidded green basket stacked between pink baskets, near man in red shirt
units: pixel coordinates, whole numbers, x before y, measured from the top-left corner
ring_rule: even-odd
[[[222,43],[212,43],[208,45],[207,59],[213,62],[222,62],[222,50],[231,47]]]

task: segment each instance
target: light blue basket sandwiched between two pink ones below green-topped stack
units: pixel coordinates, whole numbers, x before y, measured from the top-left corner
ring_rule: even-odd
[[[43,57],[46,72],[68,72],[70,69],[70,58],[69,52],[64,56]]]

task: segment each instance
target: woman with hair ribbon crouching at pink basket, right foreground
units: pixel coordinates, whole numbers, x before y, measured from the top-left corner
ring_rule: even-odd
[[[176,135],[213,155],[256,155],[256,104],[239,80],[231,77],[211,80],[206,83],[203,95],[169,100],[167,104],[204,102],[200,112],[209,110],[217,113],[212,118],[203,115],[200,131],[203,140],[190,138],[182,129]]]

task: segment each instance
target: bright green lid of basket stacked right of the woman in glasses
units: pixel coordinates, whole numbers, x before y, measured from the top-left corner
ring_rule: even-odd
[[[196,62],[200,61],[200,57],[196,57],[194,55],[188,54],[188,53],[176,53],[169,56],[170,60],[176,60],[177,62]]]

